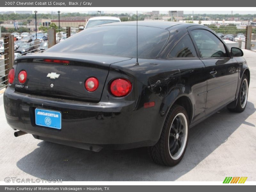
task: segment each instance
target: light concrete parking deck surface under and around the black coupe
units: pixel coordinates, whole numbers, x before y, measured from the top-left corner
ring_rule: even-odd
[[[223,181],[225,177],[256,180],[256,51],[244,51],[251,70],[247,107],[226,108],[190,129],[188,148],[175,167],[151,161],[147,148],[99,153],[36,140],[15,138],[5,120],[0,95],[0,180],[62,179],[62,181]]]

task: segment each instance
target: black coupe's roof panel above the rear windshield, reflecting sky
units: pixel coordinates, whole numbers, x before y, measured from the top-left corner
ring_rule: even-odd
[[[115,22],[115,23],[108,23],[104,25],[137,25],[137,21],[124,21],[124,22]],[[183,26],[188,27],[191,25],[198,25],[194,23],[182,23],[182,22],[173,22],[173,21],[138,21],[138,26],[147,26],[147,27],[157,27],[167,29],[172,26]],[[103,26],[103,25],[100,25]]]

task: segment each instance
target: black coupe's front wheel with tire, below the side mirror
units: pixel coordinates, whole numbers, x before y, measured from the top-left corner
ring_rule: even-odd
[[[237,113],[241,113],[244,111],[247,104],[247,99],[248,99],[248,90],[249,90],[248,77],[246,75],[243,75],[242,81],[239,87],[236,107],[228,108],[229,111],[237,112]]]

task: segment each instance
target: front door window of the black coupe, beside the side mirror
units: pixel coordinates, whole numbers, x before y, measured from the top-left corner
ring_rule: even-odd
[[[211,32],[204,29],[191,31],[201,57],[228,57],[223,43]]]

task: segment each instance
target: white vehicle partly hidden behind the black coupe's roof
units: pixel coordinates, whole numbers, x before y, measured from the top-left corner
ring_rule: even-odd
[[[121,22],[121,20],[118,17],[92,17],[87,21],[84,29],[94,27],[97,25],[106,24],[106,23],[114,23],[114,22]],[[79,27],[79,29],[81,28]]]

